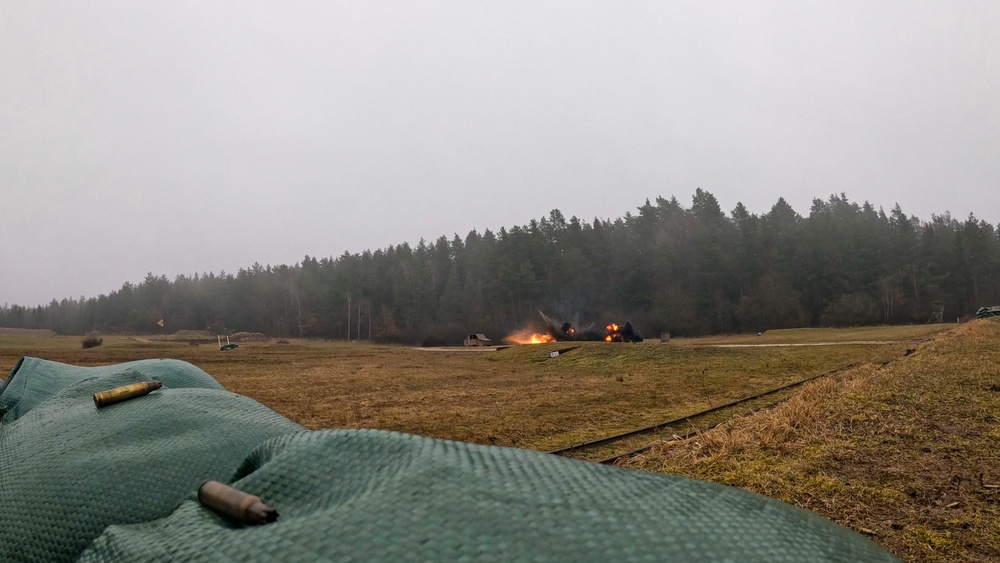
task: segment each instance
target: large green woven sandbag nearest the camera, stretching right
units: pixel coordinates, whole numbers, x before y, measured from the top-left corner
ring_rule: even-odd
[[[80,561],[896,560],[740,489],[385,431],[275,438],[234,481],[278,521],[233,524],[192,495],[157,522],[108,528]]]

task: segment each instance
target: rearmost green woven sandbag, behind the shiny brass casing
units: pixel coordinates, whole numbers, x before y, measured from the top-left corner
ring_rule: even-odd
[[[135,370],[167,387],[224,389],[201,369],[180,360],[139,360],[124,364],[79,367],[38,358],[18,360],[0,386],[0,422],[13,422],[45,399],[86,379]]]

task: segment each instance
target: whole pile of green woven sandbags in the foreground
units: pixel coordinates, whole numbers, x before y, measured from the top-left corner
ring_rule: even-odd
[[[149,379],[164,387],[95,408],[94,392]],[[2,561],[896,560],[731,487],[395,432],[305,431],[182,362],[26,358],[0,408]],[[281,516],[233,524],[195,501],[204,479]]]

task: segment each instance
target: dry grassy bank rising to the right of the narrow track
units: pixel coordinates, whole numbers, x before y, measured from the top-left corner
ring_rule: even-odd
[[[977,321],[889,364],[623,465],[815,510],[910,561],[1000,561],[1000,324]]]

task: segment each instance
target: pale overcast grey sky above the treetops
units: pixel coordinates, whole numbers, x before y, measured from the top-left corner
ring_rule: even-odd
[[[0,303],[695,188],[1000,221],[1000,2],[0,1]]]

